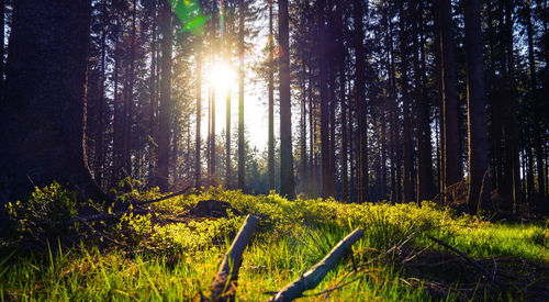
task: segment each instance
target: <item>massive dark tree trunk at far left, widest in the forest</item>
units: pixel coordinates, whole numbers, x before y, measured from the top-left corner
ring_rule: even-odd
[[[89,24],[86,0],[14,3],[0,108],[1,204],[54,180],[78,190],[81,201],[105,198],[83,143]]]

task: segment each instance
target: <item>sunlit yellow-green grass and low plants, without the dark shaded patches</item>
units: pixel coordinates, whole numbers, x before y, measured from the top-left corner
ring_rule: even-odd
[[[220,219],[190,215],[189,211],[200,200],[211,199],[228,202],[234,211]],[[117,247],[101,250],[92,245],[0,261],[0,299],[192,300],[199,291],[209,292],[223,254],[247,213],[261,221],[245,250],[239,272],[237,299],[243,301],[268,300],[266,291],[280,289],[301,276],[356,227],[365,231],[365,237],[351,251],[356,264],[361,265],[359,270],[354,272],[351,258],[346,257],[317,289],[306,294],[350,281],[352,273],[356,281],[330,292],[330,300],[463,299],[456,290],[460,286],[457,280],[448,284],[442,295],[433,297],[424,287],[428,279],[399,267],[394,247],[406,241],[408,250],[430,248],[447,253],[433,246],[427,235],[477,259],[513,257],[549,262],[544,246],[549,235],[547,223],[490,223],[477,216],[458,215],[432,202],[391,205],[343,204],[321,199],[288,201],[274,193],[251,197],[215,188],[152,206],[150,214],[125,214],[110,231],[119,243],[134,248],[130,256]],[[236,212],[243,215],[235,215]],[[473,298],[524,299],[506,291],[493,294],[479,289]]]

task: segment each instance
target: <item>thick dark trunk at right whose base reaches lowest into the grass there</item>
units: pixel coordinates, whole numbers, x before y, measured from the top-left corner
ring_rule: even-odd
[[[480,0],[464,3],[467,54],[467,104],[469,126],[469,210],[491,209],[488,170],[484,59]]]

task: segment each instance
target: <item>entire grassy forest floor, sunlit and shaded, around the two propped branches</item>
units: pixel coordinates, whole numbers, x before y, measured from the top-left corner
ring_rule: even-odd
[[[205,200],[222,202],[200,203]],[[42,253],[29,251],[21,241],[0,242],[0,301],[208,297],[246,214],[260,222],[244,253],[236,288],[239,301],[269,300],[356,227],[363,230],[363,237],[301,300],[547,301],[549,297],[549,221],[490,222],[433,202],[419,206],[288,201],[277,194],[253,197],[214,189],[142,210],[112,225],[87,224],[87,237],[80,235],[71,244],[52,239]]]

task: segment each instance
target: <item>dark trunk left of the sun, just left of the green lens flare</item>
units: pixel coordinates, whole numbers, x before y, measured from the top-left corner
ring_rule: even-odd
[[[169,150],[170,150],[170,130],[171,113],[173,104],[171,102],[171,8],[169,3],[160,4],[159,30],[163,34],[161,40],[161,78],[160,78],[160,114],[158,130],[158,186],[160,190],[167,191],[169,188]]]

